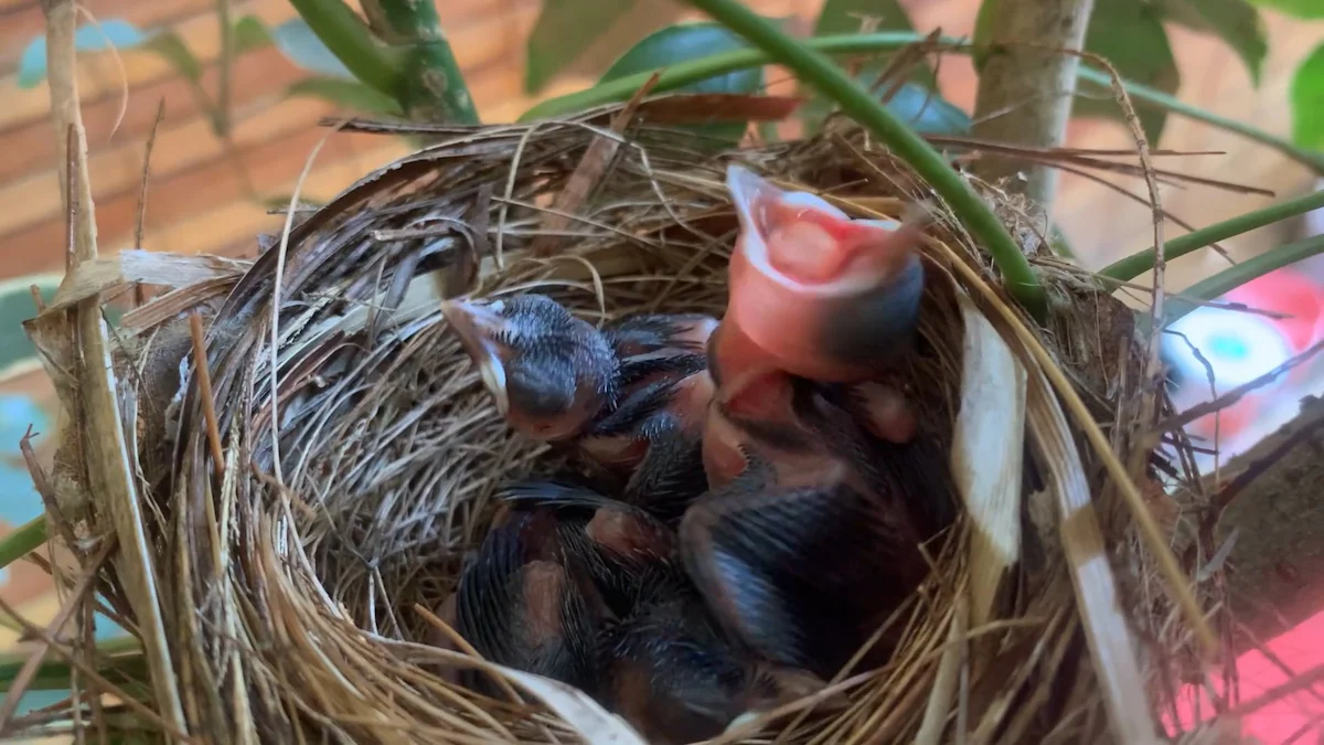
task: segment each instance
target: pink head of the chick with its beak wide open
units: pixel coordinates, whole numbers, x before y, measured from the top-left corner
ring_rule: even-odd
[[[740,236],[730,306],[708,350],[710,371],[727,371],[722,395],[775,370],[851,383],[874,435],[910,440],[915,414],[879,374],[914,349],[923,217],[851,220],[822,198],[780,190],[736,164],[727,188]]]

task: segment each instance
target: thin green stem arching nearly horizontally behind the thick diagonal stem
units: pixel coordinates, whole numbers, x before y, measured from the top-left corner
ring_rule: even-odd
[[[842,36],[821,36],[817,38],[801,40],[805,48],[822,52],[825,54],[863,54],[869,52],[886,52],[892,49],[900,49],[908,44],[915,44],[923,41],[923,37],[915,33],[904,32],[891,32],[891,33],[867,33],[867,34],[842,34]],[[953,52],[970,53],[973,46],[960,38],[941,37],[937,42],[944,48]],[[700,60],[694,60],[690,62],[683,62],[667,68],[658,85],[653,89],[654,93],[666,93],[667,90],[675,90],[682,85],[696,82],[712,76],[722,73],[730,73],[732,70],[741,70],[745,68],[753,68],[759,65],[767,65],[772,62],[772,56],[760,49],[741,49],[737,52],[723,52],[720,54],[711,54]],[[617,78],[610,82],[605,82],[593,86],[588,90],[581,90],[579,93],[571,93],[568,95],[561,95],[557,98],[551,98],[534,106],[519,118],[519,121],[531,121],[539,118],[552,118],[561,117],[565,114],[573,114],[576,111],[583,111],[584,109],[591,109],[593,106],[601,106],[604,103],[614,103],[618,101],[628,101],[634,93],[642,86],[653,70],[638,73],[634,76],[628,76],[624,78]],[[1095,70],[1087,65],[1080,65],[1076,70],[1078,80],[1086,80],[1088,82],[1095,82],[1100,85],[1108,85],[1108,76]],[[1217,129],[1227,130],[1262,144],[1267,144],[1274,150],[1278,150],[1283,155],[1287,155],[1292,160],[1301,163],[1312,168],[1315,172],[1324,175],[1324,152],[1305,150],[1298,147],[1291,141],[1272,135],[1263,130],[1255,129],[1245,122],[1238,122],[1221,117],[1211,111],[1205,111],[1204,109],[1197,109],[1189,103],[1182,103],[1181,101],[1168,95],[1162,91],[1155,90],[1152,87],[1140,85],[1132,81],[1121,81],[1121,87],[1125,89],[1127,94],[1131,95],[1133,102],[1156,106],[1173,114],[1188,117],[1198,122],[1204,122]]]

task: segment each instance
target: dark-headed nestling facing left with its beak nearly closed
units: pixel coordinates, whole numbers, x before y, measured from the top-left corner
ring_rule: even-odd
[[[555,300],[450,301],[442,312],[518,431],[573,448],[624,498],[674,526],[706,488],[699,432],[716,319],[634,315],[598,331]]]

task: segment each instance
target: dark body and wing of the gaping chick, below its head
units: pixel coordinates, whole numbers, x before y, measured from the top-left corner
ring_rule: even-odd
[[[681,525],[685,566],[724,627],[824,679],[910,597],[927,574],[919,545],[951,518],[940,449],[880,439],[867,418],[842,384],[747,379],[710,412],[715,488]],[[886,660],[892,631],[866,664]]]

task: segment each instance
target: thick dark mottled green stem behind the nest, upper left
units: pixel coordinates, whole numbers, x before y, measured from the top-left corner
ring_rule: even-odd
[[[441,28],[437,5],[421,0],[361,0],[377,38],[405,52],[400,106],[418,122],[477,125],[478,110]]]

